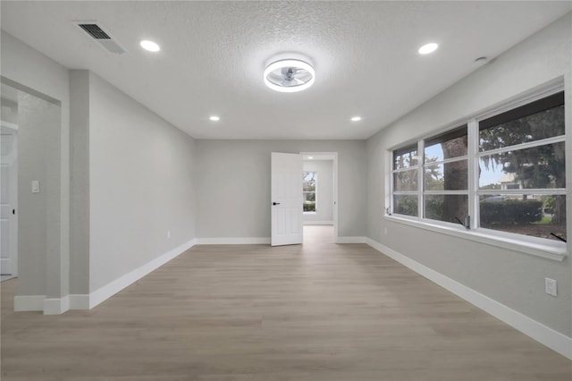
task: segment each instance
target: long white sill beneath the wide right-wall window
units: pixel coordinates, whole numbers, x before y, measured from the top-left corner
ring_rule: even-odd
[[[566,243],[554,241],[540,243],[536,241],[526,241],[526,236],[509,238],[484,233],[483,230],[466,230],[463,228],[445,226],[442,224],[431,224],[426,221],[414,220],[401,216],[385,216],[385,219],[398,224],[407,224],[420,229],[429,230],[435,233],[452,235],[470,241],[476,241],[502,249],[514,250],[536,257],[548,258],[556,261],[563,261],[567,257]],[[515,234],[517,235],[517,234]]]

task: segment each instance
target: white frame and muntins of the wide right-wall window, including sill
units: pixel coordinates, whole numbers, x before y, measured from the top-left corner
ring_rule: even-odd
[[[480,226],[479,221],[479,196],[486,194],[534,194],[534,195],[565,195],[567,196],[566,189],[561,188],[546,188],[546,189],[515,189],[515,190],[480,190],[479,189],[479,172],[478,165],[481,157],[491,156],[497,153],[508,152],[510,150],[521,150],[526,148],[546,146],[548,144],[554,144],[559,142],[564,142],[565,152],[566,152],[566,174],[567,179],[569,179],[570,169],[569,168],[569,156],[570,156],[570,144],[568,138],[568,132],[564,131],[563,135],[557,137],[552,137],[543,140],[534,140],[526,143],[520,143],[517,145],[497,148],[489,151],[479,151],[479,122],[485,119],[491,118],[496,115],[507,113],[519,106],[525,106],[536,100],[543,99],[545,97],[551,97],[561,91],[565,91],[564,84],[562,80],[555,81],[543,89],[531,91],[528,95],[513,98],[511,101],[507,101],[501,104],[501,106],[496,106],[490,108],[481,114],[475,114],[464,120],[459,120],[456,123],[450,123],[445,128],[431,133],[430,135],[421,136],[418,139],[411,141],[408,140],[406,143],[402,143],[399,146],[388,149],[386,152],[386,158],[389,162],[389,167],[386,175],[386,181],[389,181],[389,186],[386,184],[386,191],[388,196],[385,198],[385,218],[393,222],[400,224],[407,224],[416,227],[420,227],[426,230],[431,230],[437,233],[445,233],[448,235],[458,236],[461,238],[468,239],[470,241],[478,241],[492,246],[501,247],[509,250],[517,250],[530,255],[540,256],[543,258],[551,258],[554,260],[562,261],[567,257],[568,245],[562,241],[553,241],[550,239],[544,239],[534,236],[528,236],[519,233],[508,233],[502,232],[500,230],[487,229]],[[567,110],[567,99],[568,93],[565,92],[565,118],[566,124],[568,126],[568,115]],[[425,166],[442,164],[447,161],[458,161],[461,157],[455,157],[451,159],[445,159],[437,162],[425,162],[425,142],[428,140],[434,140],[436,137],[442,134],[446,134],[449,131],[453,131],[459,126],[467,125],[467,188],[468,190],[425,190]],[[417,190],[410,191],[411,194],[417,195],[417,216],[405,216],[399,214],[393,214],[394,210],[394,194],[396,194],[394,187],[393,174],[395,170],[393,169],[393,152],[399,150],[400,148],[406,148],[413,146],[416,143],[417,147]],[[569,180],[568,180],[569,182]],[[397,192],[401,194],[402,192]],[[468,193],[468,215],[470,216],[470,224],[465,227],[461,224],[454,224],[450,222],[433,220],[425,218],[425,195],[430,194],[467,194]],[[567,196],[567,205],[569,203]],[[568,207],[567,207],[568,209]],[[567,215],[568,217],[568,215]],[[568,225],[571,222],[567,218],[567,231]]]

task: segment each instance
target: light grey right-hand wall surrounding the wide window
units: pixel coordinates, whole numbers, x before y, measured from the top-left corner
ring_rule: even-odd
[[[398,224],[386,219],[383,210],[387,185],[384,174],[389,168],[386,152],[389,149],[467,119],[561,76],[566,80],[567,185],[571,187],[571,52],[572,15],[569,13],[392,123],[366,144],[369,238],[568,337],[572,336],[569,258],[563,262],[538,258],[517,250]],[[568,197],[568,216],[572,216],[571,201]],[[571,236],[571,225],[568,221],[568,237]],[[387,229],[387,235],[383,233],[384,229]],[[544,277],[558,281],[558,298],[544,293]]]

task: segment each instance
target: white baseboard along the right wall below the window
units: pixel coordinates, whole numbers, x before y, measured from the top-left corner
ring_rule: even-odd
[[[532,337],[537,342],[543,343],[552,351],[557,351],[562,356],[572,360],[572,338],[567,335],[560,334],[551,327],[544,326],[542,323],[539,323],[532,318],[528,318],[517,310],[510,309],[504,304],[494,301],[488,296],[480,292],[476,292],[464,284],[459,284],[450,277],[442,275],[432,268],[426,267],[416,260],[408,258],[400,252],[388,248],[378,241],[367,238],[366,243],[375,250],[380,251],[382,254],[400,262],[401,265],[409,267],[417,274],[425,276],[425,278],[429,279],[433,283],[439,284],[444,289],[454,293],[465,301],[468,301],[475,307],[483,309],[493,317],[498,318],[523,334]]]

